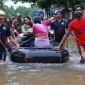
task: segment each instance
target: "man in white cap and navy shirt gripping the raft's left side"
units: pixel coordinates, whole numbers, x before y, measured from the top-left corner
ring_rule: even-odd
[[[6,37],[10,39],[10,41],[16,46],[17,49],[19,48],[19,46],[16,44],[16,42],[11,36],[10,28],[8,27],[7,24],[4,23],[4,19],[5,19],[5,12],[0,10],[0,62],[4,62],[6,59],[6,49],[5,49]]]

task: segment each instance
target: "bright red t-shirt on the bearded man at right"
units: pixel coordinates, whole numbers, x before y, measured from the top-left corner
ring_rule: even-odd
[[[77,44],[85,45],[85,17],[81,20],[73,20],[68,26],[68,31],[71,32],[72,30],[75,33]]]

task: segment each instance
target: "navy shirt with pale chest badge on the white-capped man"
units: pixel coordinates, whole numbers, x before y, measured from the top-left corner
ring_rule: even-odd
[[[0,26],[0,40],[4,44],[4,46],[5,46],[6,37],[10,37],[10,36],[11,36],[10,28],[8,27],[8,25],[2,24]],[[6,52],[4,46],[0,43],[0,53]]]

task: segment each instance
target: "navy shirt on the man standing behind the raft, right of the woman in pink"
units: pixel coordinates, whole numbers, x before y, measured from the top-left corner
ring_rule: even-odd
[[[62,19],[61,22],[54,20],[51,23],[51,28],[54,29],[55,42],[60,42],[62,40],[66,31],[66,23],[67,21],[65,19]]]

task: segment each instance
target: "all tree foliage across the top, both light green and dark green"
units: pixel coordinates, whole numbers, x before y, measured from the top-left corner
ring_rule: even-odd
[[[76,4],[81,4],[85,8],[85,0],[13,0],[14,2],[32,2],[31,8],[26,7],[18,7],[16,10],[11,6],[8,8],[7,6],[3,6],[3,3],[6,0],[0,0],[0,8],[6,12],[6,16],[8,18],[11,18],[12,15],[15,13],[20,13],[23,17],[28,15],[30,17],[33,17],[33,12],[38,11],[38,8],[46,9],[47,11],[50,11],[50,8],[53,5],[63,6],[66,10],[68,10],[68,7],[71,7],[72,9]],[[33,4],[34,3],[34,4]],[[39,6],[39,7],[38,7]]]

